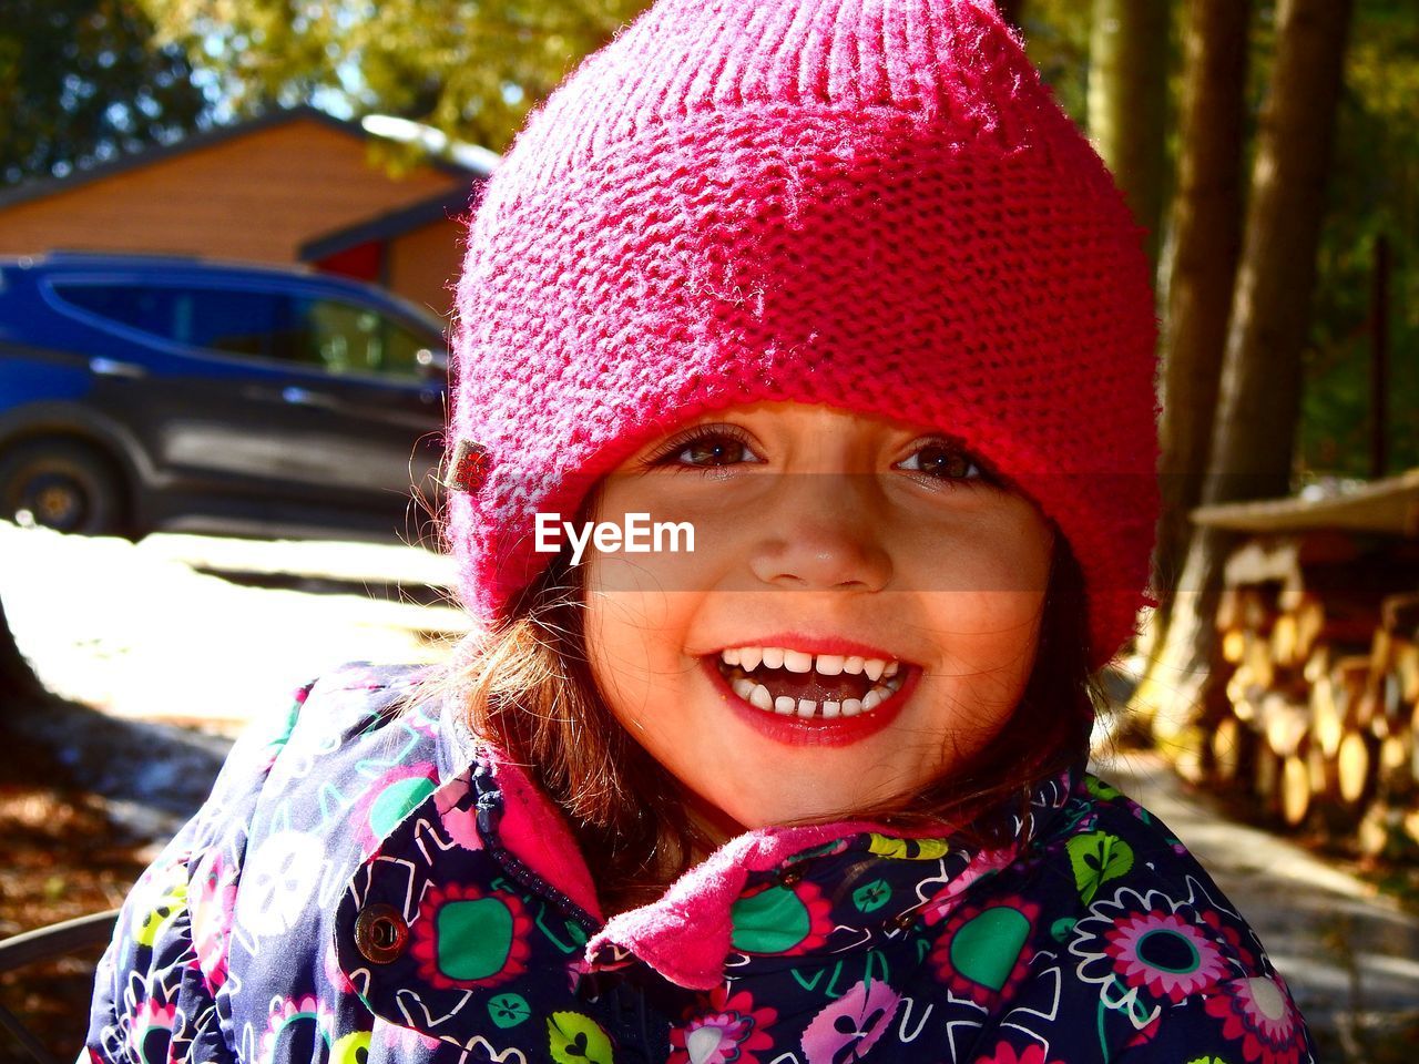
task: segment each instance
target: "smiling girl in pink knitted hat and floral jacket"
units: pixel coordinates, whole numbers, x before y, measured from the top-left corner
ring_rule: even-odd
[[[92,1060],[1313,1060],[1084,770],[1152,295],[985,0],[661,0],[488,183],[458,311],[484,626],[243,739]]]

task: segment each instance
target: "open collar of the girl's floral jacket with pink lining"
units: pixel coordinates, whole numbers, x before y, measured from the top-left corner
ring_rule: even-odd
[[[680,1000],[678,1012],[684,994],[815,955],[857,952],[870,968],[878,948],[939,924],[972,882],[1010,864],[1083,770],[1040,783],[1027,813],[1000,810],[1012,841],[998,850],[866,821],[762,829],[607,922],[556,807],[460,714],[419,712],[410,726],[440,748],[434,790],[346,881],[329,977],[377,1016],[465,1047],[482,1041],[470,1031],[515,1023],[532,999],[570,993],[592,1007],[634,980]],[[646,980],[651,970],[663,980]]]

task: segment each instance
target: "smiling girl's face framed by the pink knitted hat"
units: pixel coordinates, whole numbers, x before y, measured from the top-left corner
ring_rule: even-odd
[[[593,521],[694,529],[692,552],[684,528],[587,546],[586,637],[612,712],[721,838],[949,773],[1025,691],[1051,525],[939,430],[718,410],[612,472]]]

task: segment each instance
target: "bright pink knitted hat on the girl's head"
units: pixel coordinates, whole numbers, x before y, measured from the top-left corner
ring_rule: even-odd
[[[633,451],[765,399],[959,437],[1054,519],[1091,663],[1158,508],[1142,233],[986,0],[660,0],[528,121],[471,223],[450,492],[501,619]],[[467,447],[464,448],[467,455]]]

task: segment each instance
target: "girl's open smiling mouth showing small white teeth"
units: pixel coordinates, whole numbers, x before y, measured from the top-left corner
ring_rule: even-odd
[[[778,716],[832,721],[877,709],[901,689],[908,663],[782,647],[732,647],[715,657],[745,702]]]

